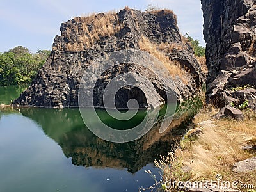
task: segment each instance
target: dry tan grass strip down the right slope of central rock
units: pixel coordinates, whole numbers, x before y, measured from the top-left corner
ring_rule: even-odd
[[[170,60],[170,58],[166,56],[166,53],[161,51],[172,51],[174,47],[178,47],[177,44],[154,44],[150,42],[148,38],[142,36],[139,42],[139,47],[141,51],[146,51],[149,54],[152,54],[152,56],[156,57],[159,61],[161,61],[168,69],[171,76],[179,76],[184,84],[188,84],[188,81],[186,80],[186,72],[180,67],[179,62]]]

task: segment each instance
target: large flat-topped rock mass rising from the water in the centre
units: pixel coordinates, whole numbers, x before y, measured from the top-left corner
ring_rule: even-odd
[[[158,56],[157,59],[163,63],[168,63],[166,67],[170,68],[174,81],[168,88],[174,90],[178,100],[189,99],[200,92],[204,77],[188,42],[182,42],[173,12],[140,12],[125,8],[119,13],[76,17],[61,24],[61,35],[54,38],[51,55],[44,67],[31,86],[13,104],[78,106],[77,95],[84,70],[100,56],[124,49],[147,51]],[[156,93],[155,97],[151,98],[159,103],[163,102],[165,90],[161,81],[165,77],[157,76],[154,69],[149,70],[129,63],[121,63],[120,66],[110,68],[107,74],[102,74],[98,82],[102,84],[98,84],[95,93],[100,95],[111,78],[134,71],[154,84]],[[132,86],[123,88],[120,95],[127,96],[116,97],[120,99],[120,108],[125,108],[127,100],[134,95],[137,99],[144,98],[142,93]],[[141,108],[148,106],[145,102],[145,99],[139,100]],[[102,106],[100,99],[94,104]]]

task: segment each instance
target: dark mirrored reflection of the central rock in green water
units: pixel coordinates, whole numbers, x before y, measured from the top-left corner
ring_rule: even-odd
[[[127,168],[134,173],[171,150],[186,131],[184,120],[191,111],[195,112],[194,107],[180,108],[162,134],[157,124],[145,136],[129,143],[111,143],[92,134],[84,125],[79,109],[20,108],[20,112],[40,124],[45,134],[61,146],[65,156],[72,157],[73,164]]]

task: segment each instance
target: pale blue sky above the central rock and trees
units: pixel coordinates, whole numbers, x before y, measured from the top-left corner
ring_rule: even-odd
[[[9,0],[0,6],[0,52],[17,45],[38,49],[52,48],[60,24],[72,17],[92,12],[120,10],[125,6],[144,11],[148,4],[169,8],[178,17],[180,31],[205,45],[202,35],[202,10],[199,0]]]

